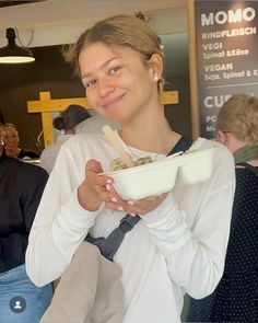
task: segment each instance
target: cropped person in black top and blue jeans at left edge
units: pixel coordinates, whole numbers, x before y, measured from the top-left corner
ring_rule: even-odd
[[[36,287],[25,270],[28,233],[47,173],[7,157],[0,137],[0,322],[38,323],[52,298],[52,286]]]

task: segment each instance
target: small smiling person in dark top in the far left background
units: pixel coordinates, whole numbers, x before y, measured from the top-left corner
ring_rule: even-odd
[[[19,147],[20,138],[15,125],[4,124],[0,126],[0,136],[2,137],[5,154],[19,159],[39,158],[39,154],[33,150],[27,150]]]

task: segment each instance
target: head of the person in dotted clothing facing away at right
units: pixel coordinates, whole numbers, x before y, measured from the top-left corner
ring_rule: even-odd
[[[233,153],[258,148],[258,97],[235,94],[224,103],[216,117],[216,140]]]

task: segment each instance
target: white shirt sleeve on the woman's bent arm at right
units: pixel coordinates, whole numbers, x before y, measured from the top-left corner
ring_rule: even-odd
[[[171,279],[192,298],[212,293],[220,281],[230,235],[235,191],[234,162],[224,155],[216,164],[194,221],[169,194],[159,211],[142,217],[163,253]],[[196,187],[198,189],[198,187]],[[192,208],[195,200],[191,200]]]

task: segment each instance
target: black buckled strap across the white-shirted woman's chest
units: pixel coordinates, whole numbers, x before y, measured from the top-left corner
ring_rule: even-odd
[[[186,151],[192,145],[192,140],[186,136],[181,136],[181,138],[177,141],[176,146],[169,151],[167,155],[179,151]],[[93,238],[90,233],[87,233],[85,241],[93,243],[96,245],[102,255],[109,261],[113,261],[114,255],[119,249],[122,240],[127,232],[131,231],[131,229],[141,220],[139,216],[130,216],[126,215],[121,220],[119,227],[114,229],[112,233],[107,238]]]

